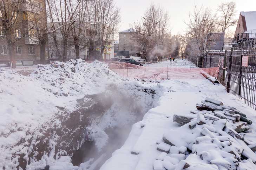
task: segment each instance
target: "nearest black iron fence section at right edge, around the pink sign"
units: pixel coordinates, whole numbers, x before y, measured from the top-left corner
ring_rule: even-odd
[[[256,109],[256,50],[235,50],[229,53],[228,92]],[[249,56],[248,66],[242,66]]]

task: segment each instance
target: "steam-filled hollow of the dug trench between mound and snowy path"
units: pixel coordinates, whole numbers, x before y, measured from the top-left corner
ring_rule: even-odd
[[[73,165],[79,166],[81,163],[87,162],[88,170],[98,170],[115,150],[123,146],[132,125],[142,120],[144,114],[153,107],[153,101],[157,98],[155,91],[151,89],[134,91],[135,93],[131,95],[129,91],[114,90],[111,87],[104,93],[94,95],[93,98],[90,96],[94,101],[94,106],[84,115],[93,116],[93,118],[91,117],[92,124],[94,124],[93,121],[98,122],[101,127],[103,127],[102,124],[108,124],[103,127],[103,131],[108,137],[105,146],[99,150],[96,142],[90,140],[90,133],[95,132],[87,131],[85,142],[73,154]],[[106,119],[108,116],[113,122],[104,122],[108,120]],[[93,126],[91,130],[94,130]]]

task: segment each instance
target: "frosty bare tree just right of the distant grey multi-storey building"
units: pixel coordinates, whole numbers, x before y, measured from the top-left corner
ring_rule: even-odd
[[[151,57],[170,55],[171,36],[169,32],[170,17],[160,5],[151,3],[141,23],[134,23],[134,38],[147,61]]]

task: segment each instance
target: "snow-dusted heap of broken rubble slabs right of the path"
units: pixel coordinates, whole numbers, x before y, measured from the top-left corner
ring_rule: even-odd
[[[174,115],[183,125],[157,141],[162,152],[154,170],[255,170],[256,144],[246,140],[252,121],[234,107],[206,98],[189,116]]]

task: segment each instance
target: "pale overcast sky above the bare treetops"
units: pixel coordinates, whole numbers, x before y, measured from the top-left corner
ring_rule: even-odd
[[[116,0],[121,9],[122,22],[119,31],[129,29],[129,24],[140,21],[151,2],[162,5],[170,14],[170,29],[172,34],[186,31],[184,21],[188,19],[189,12],[193,10],[195,2],[197,5],[209,6],[216,10],[218,4],[227,0]],[[241,11],[256,10],[256,0],[235,0],[237,7],[237,18]],[[233,28],[234,29],[234,28]]]

